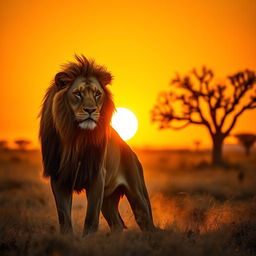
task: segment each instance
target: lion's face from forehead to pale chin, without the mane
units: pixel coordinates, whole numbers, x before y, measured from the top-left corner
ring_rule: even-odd
[[[68,104],[81,129],[93,130],[100,119],[105,92],[93,77],[78,77],[67,92]]]

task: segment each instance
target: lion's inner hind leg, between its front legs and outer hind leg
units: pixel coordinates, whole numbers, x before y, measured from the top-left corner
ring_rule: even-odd
[[[103,198],[101,211],[112,232],[122,231],[126,228],[118,211],[121,195],[122,192],[120,187],[117,188],[112,195]]]

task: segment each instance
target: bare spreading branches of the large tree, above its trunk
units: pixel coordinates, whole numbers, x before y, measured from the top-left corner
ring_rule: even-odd
[[[233,93],[230,97],[226,95],[226,85],[218,84],[215,87],[210,87],[213,77],[213,72],[206,67],[203,67],[200,73],[193,70],[192,75],[184,77],[177,74],[171,81],[174,90],[160,94],[158,104],[154,106],[151,112],[152,121],[159,122],[161,129],[178,130],[189,124],[205,125],[212,137],[217,133],[223,137],[227,136],[235,126],[238,117],[245,110],[256,108],[255,92],[255,95],[251,96],[251,100],[235,114],[226,132],[222,132],[227,116],[234,113],[241,99],[249,90],[254,88],[256,75],[253,71],[245,70],[230,76],[228,79],[233,87]],[[204,113],[202,101],[209,108],[209,119]],[[181,105],[181,111],[178,114],[175,113],[174,103]],[[220,119],[218,119],[219,109],[224,110],[224,115]],[[175,121],[183,124],[181,126],[173,125]]]

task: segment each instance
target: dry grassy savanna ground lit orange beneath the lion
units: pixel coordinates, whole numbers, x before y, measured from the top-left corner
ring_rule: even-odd
[[[136,150],[144,166],[155,223],[141,233],[125,198],[128,229],[81,238],[86,199],[74,195],[74,237],[59,235],[39,151],[0,153],[0,255],[255,255],[256,155],[225,153],[224,168],[207,151]]]

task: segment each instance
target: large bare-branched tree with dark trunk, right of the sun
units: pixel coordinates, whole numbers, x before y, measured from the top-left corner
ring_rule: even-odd
[[[184,77],[177,74],[170,91],[159,94],[151,117],[160,129],[205,126],[212,139],[212,163],[219,165],[224,139],[244,111],[256,108],[256,76],[245,70],[228,76],[225,84],[213,83],[213,78],[213,71],[206,67]]]

